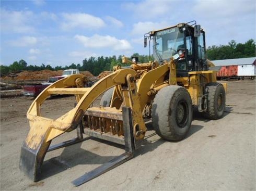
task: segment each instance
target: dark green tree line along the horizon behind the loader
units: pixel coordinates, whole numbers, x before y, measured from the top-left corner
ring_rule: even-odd
[[[232,59],[232,58],[246,58],[255,57],[255,42],[250,39],[246,43],[236,43],[236,41],[231,40],[228,45],[219,46],[209,46],[206,49],[207,58],[210,60],[222,60],[222,59]],[[139,58],[139,62],[148,62],[148,55],[139,55],[138,53],[133,54]],[[152,57],[153,58],[153,57]],[[154,58],[153,58],[154,59]],[[69,66],[56,66],[52,67],[50,65],[41,64],[28,65],[28,63],[21,59],[19,61],[13,62],[10,66],[0,65],[1,76],[7,75],[11,72],[19,72],[23,70],[39,71],[39,70],[66,70],[66,69],[78,69],[80,71],[89,71],[94,75],[98,75],[102,71],[112,71],[113,66],[122,65],[122,56],[110,56],[110,57],[90,57],[85,58],[82,63],[72,63]]]

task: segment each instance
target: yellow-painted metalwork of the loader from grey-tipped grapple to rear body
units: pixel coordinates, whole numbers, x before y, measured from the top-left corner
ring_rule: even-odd
[[[142,113],[145,110],[150,112],[152,101],[161,88],[169,85],[182,85],[190,93],[192,104],[198,105],[202,100],[205,84],[216,82],[215,71],[189,72],[188,77],[177,78],[176,63],[173,59],[164,62],[161,66],[155,61],[142,64],[133,63],[130,69],[115,67],[114,70],[113,73],[92,87],[84,87],[86,78],[83,75],[71,75],[48,86],[34,99],[27,112],[30,130],[21,148],[20,162],[25,166],[21,165],[21,168],[33,180],[37,180],[38,168],[40,168],[52,139],[65,132],[73,131],[86,117],[90,123],[87,127],[92,131],[112,132],[113,135],[124,136],[126,129],[125,131],[124,129],[120,130],[120,128],[125,127],[121,124],[122,119],[116,116],[121,116],[121,107],[131,108],[131,119],[129,119],[131,121],[129,123],[132,129],[132,139],[134,143],[138,143],[142,141],[146,133]],[[112,87],[115,88],[110,103],[111,107],[89,108],[98,96]],[[52,94],[75,95],[77,104],[75,108],[57,119],[42,117],[41,105]],[[98,114],[93,116],[92,113],[95,112]],[[112,116],[116,119],[104,118],[106,116]],[[110,128],[102,125],[105,122]]]

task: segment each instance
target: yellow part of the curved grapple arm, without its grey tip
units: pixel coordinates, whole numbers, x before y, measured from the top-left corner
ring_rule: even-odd
[[[39,143],[41,143],[42,139],[44,139],[45,142],[49,142],[64,132],[74,130],[82,119],[84,112],[99,95],[113,86],[127,83],[128,79],[126,78],[135,79],[132,77],[135,74],[136,72],[132,69],[118,70],[103,78],[91,88],[75,87],[75,80],[83,79],[83,76],[72,75],[71,77],[57,81],[56,83],[45,88],[45,90],[33,101],[27,112],[27,118],[30,122],[30,131],[25,141],[27,146],[31,149],[35,149]],[[140,127],[139,131],[145,132],[146,128],[144,122],[142,122],[142,116],[139,116],[138,112],[136,111],[141,111],[141,108],[139,108],[140,104],[137,91],[135,91],[136,83],[134,85],[134,83],[132,83],[130,80],[130,83],[127,84],[130,85],[128,88],[129,95],[126,96],[129,101],[125,102],[125,106],[132,108],[134,121],[137,121],[135,123],[138,123]],[[80,98],[74,109],[54,120],[41,117],[40,112],[40,106],[50,94],[74,94],[83,96]],[[131,97],[134,97],[134,99],[131,99]],[[142,133],[140,136],[135,137],[142,139],[144,135]]]

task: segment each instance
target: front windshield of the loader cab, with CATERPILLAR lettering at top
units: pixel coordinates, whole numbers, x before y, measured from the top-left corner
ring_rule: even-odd
[[[153,55],[157,61],[170,59],[183,46],[183,31],[177,27],[156,32],[154,36]]]

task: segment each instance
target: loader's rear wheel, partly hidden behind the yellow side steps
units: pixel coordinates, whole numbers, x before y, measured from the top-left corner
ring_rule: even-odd
[[[226,93],[222,84],[209,83],[206,84],[205,93],[208,95],[207,110],[203,112],[207,119],[219,119],[223,117]]]

